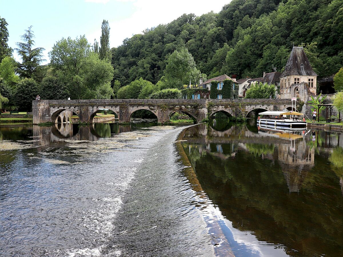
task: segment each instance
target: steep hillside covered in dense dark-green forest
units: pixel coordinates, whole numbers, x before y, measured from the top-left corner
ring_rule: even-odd
[[[112,48],[114,79],[127,85],[164,75],[167,58],[187,47],[209,78],[238,78],[281,71],[293,44],[304,46],[319,77],[343,65],[342,0],[233,0],[221,12],[184,14],[167,25],[146,29]]]

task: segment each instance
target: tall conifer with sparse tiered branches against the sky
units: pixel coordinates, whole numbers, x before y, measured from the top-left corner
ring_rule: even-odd
[[[43,47],[33,48],[35,46],[35,37],[32,31],[32,26],[25,30],[25,34],[21,36],[23,42],[17,42],[15,50],[22,59],[22,63],[18,64],[17,73],[23,78],[37,78],[37,74],[41,69],[40,63],[45,61],[43,58]]]

